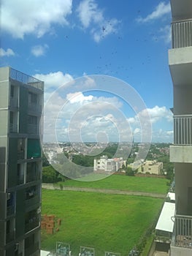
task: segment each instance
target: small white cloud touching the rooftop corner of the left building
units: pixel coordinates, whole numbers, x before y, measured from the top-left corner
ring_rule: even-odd
[[[49,74],[36,74],[34,78],[45,82],[45,90],[47,89],[58,89],[59,86],[64,86],[73,80],[72,75],[64,74],[61,71],[50,72]]]

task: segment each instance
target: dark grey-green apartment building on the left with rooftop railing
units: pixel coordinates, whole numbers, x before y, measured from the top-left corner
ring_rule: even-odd
[[[40,255],[44,83],[0,68],[0,255]]]

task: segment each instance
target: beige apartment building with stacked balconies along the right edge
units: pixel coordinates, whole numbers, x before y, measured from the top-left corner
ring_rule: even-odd
[[[192,1],[171,0],[172,49],[169,67],[174,91],[176,211],[171,256],[192,255]]]

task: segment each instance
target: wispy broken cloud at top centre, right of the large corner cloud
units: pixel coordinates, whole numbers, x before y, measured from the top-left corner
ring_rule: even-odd
[[[115,33],[120,23],[116,18],[105,18],[103,10],[99,9],[94,0],[82,0],[77,7],[77,14],[82,27],[91,31],[96,42],[100,42],[104,37]]]

